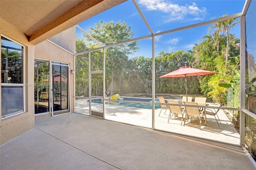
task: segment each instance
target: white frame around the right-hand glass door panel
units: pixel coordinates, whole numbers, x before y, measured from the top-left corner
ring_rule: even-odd
[[[54,116],[58,116],[58,115],[65,115],[65,114],[69,114],[69,113],[71,113],[71,103],[70,103],[70,99],[71,99],[71,97],[70,97],[70,75],[69,75],[69,73],[70,73],[70,66],[69,65],[64,65],[64,64],[57,64],[57,63],[52,63],[52,62],[54,62],[54,61],[50,61],[50,80],[51,81],[49,81],[50,82],[50,93],[51,93],[51,95],[50,95],[50,105],[51,105],[51,109],[50,109],[50,112],[51,112],[51,114],[52,114],[52,117],[54,117]],[[54,104],[54,96],[53,96],[53,85],[52,85],[52,65],[60,65],[60,66],[66,66],[66,67],[68,67],[68,95],[67,95],[67,97],[68,97],[68,109],[65,109],[65,110],[61,110],[61,111],[53,111],[53,104]],[[67,113],[60,113],[60,114],[58,114],[58,115],[54,115],[54,112],[56,113],[58,113],[58,112],[62,112],[62,111],[68,111]]]

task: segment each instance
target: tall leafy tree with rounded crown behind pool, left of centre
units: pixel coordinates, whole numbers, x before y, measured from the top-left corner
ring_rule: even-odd
[[[95,24],[95,27],[90,27],[89,29],[90,31],[88,32],[91,36],[104,46],[131,40],[134,35],[131,31],[131,26],[127,26],[125,22],[121,23],[120,21],[116,24],[113,21],[109,23],[99,21],[99,24]],[[96,44],[89,37],[84,37],[89,46]],[[110,95],[115,92],[114,89],[120,89],[120,85],[115,83],[115,81],[122,79],[122,76],[124,76],[122,73],[125,72],[124,68],[128,62],[128,55],[138,49],[137,42],[125,43],[106,49],[106,67],[108,67],[108,70],[106,70],[106,89]]]

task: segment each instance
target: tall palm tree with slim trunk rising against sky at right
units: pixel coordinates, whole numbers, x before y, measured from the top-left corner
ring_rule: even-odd
[[[222,17],[225,17],[225,16],[228,16],[228,15],[224,14]],[[229,31],[230,31],[230,28],[233,28],[237,23],[240,22],[240,21],[234,22],[235,19],[236,18],[232,18],[230,20],[225,20],[225,21],[217,22],[217,23],[213,24],[212,26],[210,26],[210,28],[208,29],[208,34],[210,33],[210,30],[212,30],[212,28],[217,28],[218,29],[216,31],[216,33],[223,32],[223,34],[224,34],[226,32],[226,37],[227,37],[227,43],[226,43],[226,45],[227,45],[226,46],[226,67],[228,65]]]

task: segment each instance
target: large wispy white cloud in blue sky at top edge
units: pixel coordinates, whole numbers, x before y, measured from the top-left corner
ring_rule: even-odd
[[[142,5],[149,11],[159,11],[166,13],[164,22],[172,22],[177,20],[202,20],[207,14],[207,9],[198,8],[197,4],[186,4],[180,6],[174,4],[170,0],[138,0],[138,4]]]

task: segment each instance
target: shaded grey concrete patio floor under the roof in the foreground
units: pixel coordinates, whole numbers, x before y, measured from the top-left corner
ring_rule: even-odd
[[[254,170],[242,148],[70,113],[0,147],[1,170]]]

